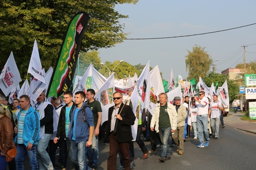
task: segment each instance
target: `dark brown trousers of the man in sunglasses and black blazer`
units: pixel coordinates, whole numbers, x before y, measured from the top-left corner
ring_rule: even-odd
[[[130,170],[130,144],[129,142],[119,143],[113,132],[110,133],[109,139],[109,157],[108,157],[108,170],[116,170],[116,157],[118,149],[120,148],[123,158],[125,170]]]

